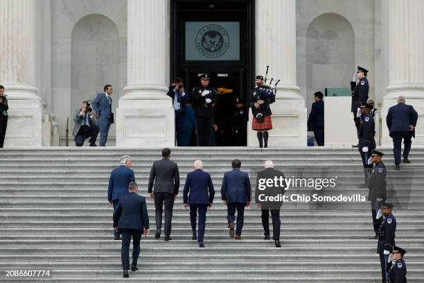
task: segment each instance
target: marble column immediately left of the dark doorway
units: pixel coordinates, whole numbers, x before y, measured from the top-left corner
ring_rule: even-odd
[[[169,1],[128,0],[127,22],[127,86],[116,110],[116,146],[173,146],[175,114],[166,95]]]

